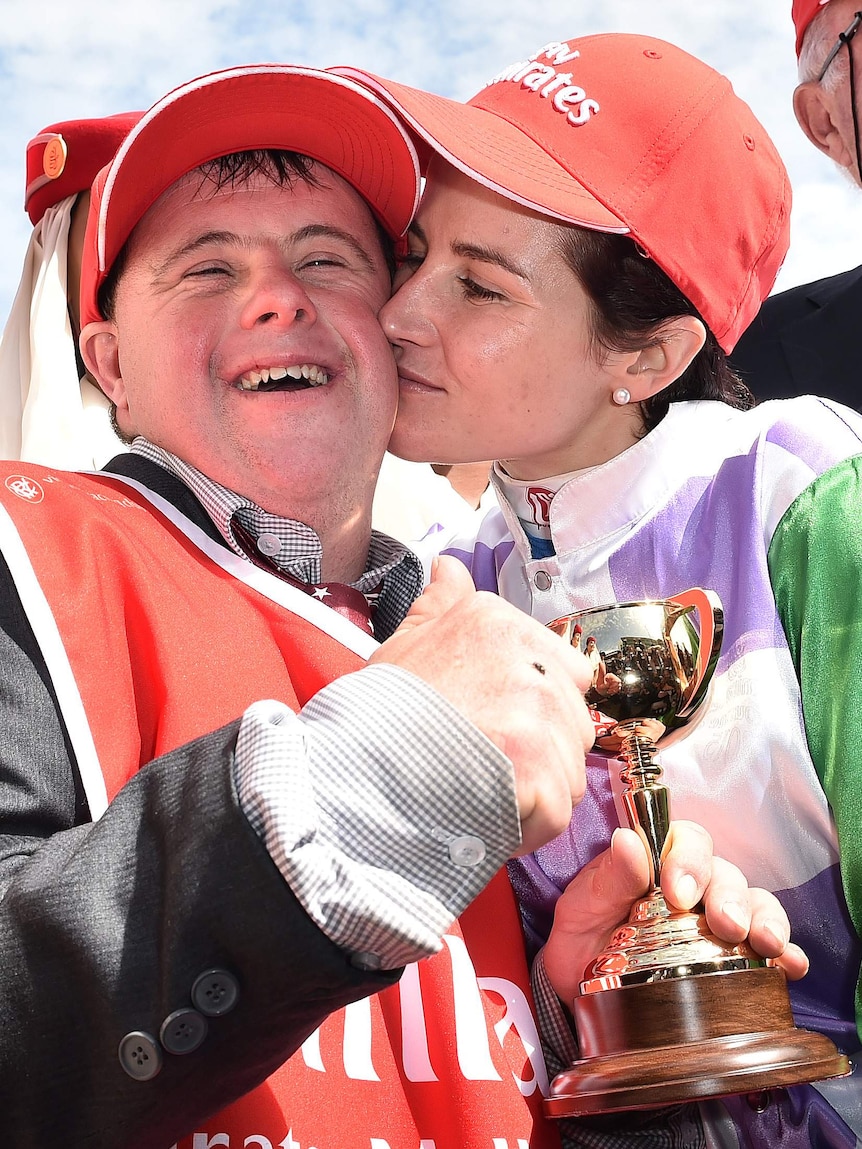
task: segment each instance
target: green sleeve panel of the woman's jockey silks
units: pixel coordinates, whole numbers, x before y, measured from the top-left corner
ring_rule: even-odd
[[[768,558],[811,759],[838,827],[845,897],[862,936],[862,456],[802,492]],[[856,1026],[862,1033],[862,978]]]

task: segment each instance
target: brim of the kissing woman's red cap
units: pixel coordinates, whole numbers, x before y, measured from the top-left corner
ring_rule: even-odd
[[[629,232],[619,216],[587,191],[572,171],[502,116],[359,68],[330,70],[367,85],[387,100],[421,140],[499,195],[563,223],[618,234]]]

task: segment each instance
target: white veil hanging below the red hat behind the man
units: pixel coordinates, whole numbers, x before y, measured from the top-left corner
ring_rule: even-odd
[[[78,379],[66,300],[74,205],[61,200],[33,228],[0,339],[0,457],[91,470],[124,446],[105,395]]]

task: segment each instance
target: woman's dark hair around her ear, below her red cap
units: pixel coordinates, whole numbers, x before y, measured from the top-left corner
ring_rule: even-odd
[[[584,228],[563,230],[561,255],[578,277],[592,302],[592,336],[598,347],[613,352],[639,350],[661,342],[661,329],[678,315],[698,309],[664,271],[641,254],[628,236],[610,236]],[[754,396],[728,363],[728,356],[706,323],[707,339],[683,375],[640,404],[646,431],[683,399],[717,399],[747,410]]]

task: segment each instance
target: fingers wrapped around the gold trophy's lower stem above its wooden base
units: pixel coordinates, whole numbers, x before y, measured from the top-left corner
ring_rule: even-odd
[[[629,917],[632,902],[648,889],[644,843],[632,830],[617,830],[610,848],[584,866],[556,903],[544,961],[557,996],[571,1002],[584,970]],[[713,854],[713,840],[692,822],[671,823],[664,848],[662,892],[680,910],[703,902],[716,936],[748,939],[762,956],[775,959],[791,980],[805,976],[808,958],[788,941],[790,923],[780,902],[765,889],[749,887],[742,872]]]

